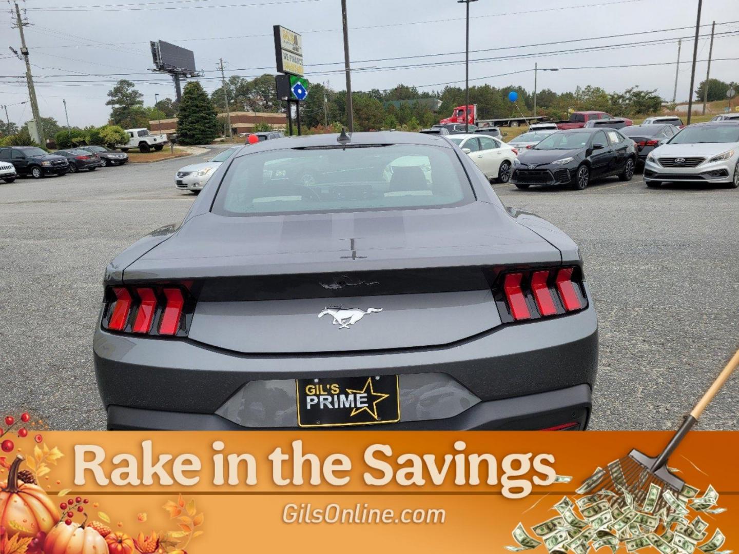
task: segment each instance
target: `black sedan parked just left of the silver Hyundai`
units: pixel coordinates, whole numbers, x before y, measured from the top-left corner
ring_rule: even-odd
[[[618,175],[630,181],[635,166],[633,140],[616,129],[568,129],[519,154],[511,182],[518,188],[569,185],[582,191],[599,177]]]

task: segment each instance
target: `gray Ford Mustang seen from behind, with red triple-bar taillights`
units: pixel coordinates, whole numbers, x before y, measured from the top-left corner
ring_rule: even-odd
[[[576,244],[443,137],[269,140],[106,270],[112,429],[583,429]]]

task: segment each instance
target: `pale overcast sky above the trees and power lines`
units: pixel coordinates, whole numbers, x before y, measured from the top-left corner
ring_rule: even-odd
[[[27,100],[24,63],[7,49],[19,49],[20,38],[18,30],[10,27],[12,4],[1,1],[7,9],[0,13],[4,29],[0,37],[5,43],[0,44],[0,105],[7,104],[10,120],[22,123],[31,117],[30,104],[19,104]],[[463,85],[463,4],[455,0],[347,3],[354,90],[387,89],[397,83]],[[174,98],[171,79],[149,72],[150,40],[193,49],[197,69],[205,70],[202,83],[208,92],[219,86],[215,69],[221,57],[227,75],[273,73],[273,24],[303,33],[310,81],[344,89],[340,0],[21,0],[19,4],[33,24],[25,30],[39,110],[60,123],[64,123],[63,98],[71,125],[105,123],[110,112],[106,92],[120,78],[136,82],[146,105],[154,103],[154,93]],[[695,33],[697,4],[697,0],[475,1],[470,4],[470,49],[485,51],[471,52],[471,84],[520,83],[533,89],[535,62],[540,69],[672,63],[539,72],[538,80],[539,89],[556,92],[588,84],[613,92],[638,84],[642,89],[657,89],[662,98],[671,100],[676,43],[684,37],[678,101],[687,100],[693,49],[693,39],[688,37]],[[718,61],[739,58],[739,0],[704,0],[703,4],[701,23],[717,21],[711,76],[739,81],[739,60]],[[664,31],[675,27],[693,28]],[[661,32],[627,35],[655,30]],[[701,28],[701,34],[709,33],[710,27]],[[605,38],[542,44],[593,37]],[[633,44],[641,41],[659,42]],[[708,38],[698,41],[698,60],[708,57],[708,42]],[[577,51],[592,47],[610,49]],[[526,57],[511,59],[521,55]],[[379,61],[399,57],[408,58]],[[490,59],[501,57],[508,59]],[[416,67],[398,67],[408,65]],[[494,76],[512,72],[521,73]],[[705,74],[704,61],[698,63],[696,83]],[[14,76],[20,78],[7,78]],[[4,120],[4,112],[0,117]]]

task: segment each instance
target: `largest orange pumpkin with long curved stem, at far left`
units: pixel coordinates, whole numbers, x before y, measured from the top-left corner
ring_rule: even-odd
[[[0,483],[0,527],[5,527],[8,538],[16,533],[21,537],[35,537],[40,531],[49,533],[59,519],[44,489],[18,479],[22,461],[23,456],[17,456],[7,482]]]

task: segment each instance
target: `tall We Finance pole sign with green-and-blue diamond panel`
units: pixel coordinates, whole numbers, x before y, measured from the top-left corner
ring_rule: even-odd
[[[275,25],[275,60],[277,72],[275,76],[277,98],[287,101],[287,126],[293,134],[292,106],[295,104],[298,134],[300,129],[300,103],[308,97],[308,81],[303,77],[303,38],[299,33]]]

